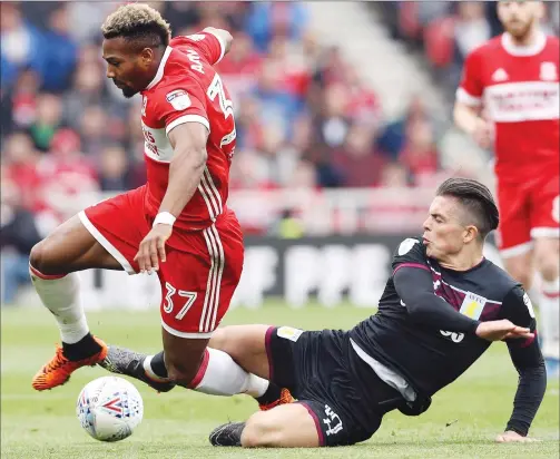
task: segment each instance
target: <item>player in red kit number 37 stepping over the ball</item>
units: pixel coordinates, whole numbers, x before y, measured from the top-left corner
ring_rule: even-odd
[[[89,332],[76,274],[106,268],[159,276],[165,360],[160,352],[138,362],[146,378],[167,390],[178,383],[274,401],[266,398],[279,398],[278,388],[207,349],[244,257],[240,227],[226,204],[236,138],[233,104],[213,68],[232,36],[206,28],[171,39],[159,12],[137,3],[110,14],[101,31],[107,77],[125,97],[143,98],[148,179],[80,212],[33,247],[31,277],[62,338],[33,388],[60,385],[76,369],[106,358],[107,345]]]

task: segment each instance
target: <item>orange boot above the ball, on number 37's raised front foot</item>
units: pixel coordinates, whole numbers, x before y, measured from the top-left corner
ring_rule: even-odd
[[[32,382],[33,389],[41,391],[62,385],[70,379],[70,374],[79,368],[86,365],[94,367],[101,362],[107,357],[108,348],[100,339],[96,336],[94,339],[101,346],[101,350],[87,359],[76,361],[68,360],[62,353],[62,348],[57,345],[57,352],[52,360],[35,375]]]

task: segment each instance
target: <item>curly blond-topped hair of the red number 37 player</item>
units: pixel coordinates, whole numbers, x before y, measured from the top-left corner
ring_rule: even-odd
[[[148,4],[129,3],[121,6],[107,17],[101,26],[106,39],[124,37],[138,48],[168,46],[171,27],[159,11]]]

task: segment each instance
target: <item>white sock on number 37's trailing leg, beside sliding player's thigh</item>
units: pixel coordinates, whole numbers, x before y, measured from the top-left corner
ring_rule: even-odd
[[[207,348],[203,364],[189,384],[190,389],[210,395],[234,395],[246,393],[253,398],[263,395],[268,381],[247,373],[223,351]]]

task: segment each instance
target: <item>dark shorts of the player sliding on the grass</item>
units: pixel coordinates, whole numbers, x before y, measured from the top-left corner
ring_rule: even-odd
[[[307,408],[321,446],[367,440],[403,401],[357,357],[347,332],[271,328],[266,350],[271,381]]]

